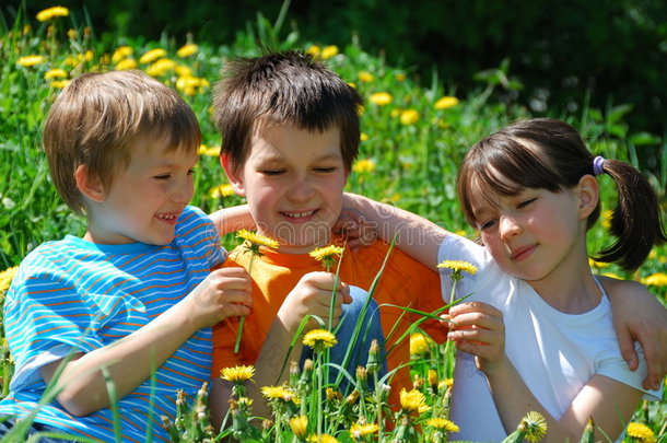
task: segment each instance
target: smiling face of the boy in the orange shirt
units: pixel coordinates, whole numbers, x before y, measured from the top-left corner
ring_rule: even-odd
[[[303,254],[329,243],[347,179],[337,127],[309,132],[257,125],[245,164],[232,171],[221,160],[258,232],[280,242],[281,252]]]

